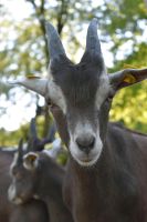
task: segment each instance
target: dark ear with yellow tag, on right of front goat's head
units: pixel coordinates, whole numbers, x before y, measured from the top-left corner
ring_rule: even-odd
[[[126,69],[109,74],[111,85],[117,91],[147,79],[147,69]]]

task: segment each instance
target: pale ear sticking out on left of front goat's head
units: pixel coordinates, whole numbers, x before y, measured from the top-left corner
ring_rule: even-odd
[[[8,83],[23,85],[27,89],[32,90],[32,91],[45,97],[49,80],[41,79],[39,77],[28,77],[28,78],[20,79],[20,80],[8,81]]]

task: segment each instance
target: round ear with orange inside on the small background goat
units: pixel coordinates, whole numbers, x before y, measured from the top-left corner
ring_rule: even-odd
[[[34,152],[29,152],[23,158],[23,167],[27,170],[34,170],[39,165],[39,155]]]

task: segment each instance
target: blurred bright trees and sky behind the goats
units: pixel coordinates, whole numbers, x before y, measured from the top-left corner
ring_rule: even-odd
[[[43,98],[8,80],[46,74],[49,53],[44,21],[52,22],[66,53],[78,62],[86,30],[98,18],[98,34],[108,72],[147,67],[146,0],[1,0],[0,1],[0,145],[27,139],[35,117],[40,138],[45,138],[52,117]],[[147,133],[147,81],[117,93],[111,120]],[[56,135],[57,137],[57,135]]]

